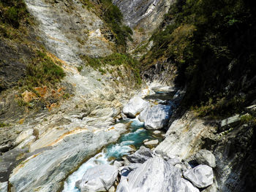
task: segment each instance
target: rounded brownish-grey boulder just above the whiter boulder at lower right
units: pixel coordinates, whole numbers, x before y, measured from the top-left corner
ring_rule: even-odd
[[[214,168],[216,166],[215,156],[209,150],[200,150],[195,154],[195,161],[198,164],[205,164]]]

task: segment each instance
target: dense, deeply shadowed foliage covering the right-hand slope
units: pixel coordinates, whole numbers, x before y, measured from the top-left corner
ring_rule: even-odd
[[[176,82],[187,85],[184,104],[210,106],[205,115],[236,112],[255,95],[255,8],[250,0],[176,1],[152,37],[144,66],[176,65]]]

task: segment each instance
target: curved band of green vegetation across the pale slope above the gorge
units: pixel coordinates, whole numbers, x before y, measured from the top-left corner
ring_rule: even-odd
[[[98,69],[99,72],[102,74],[105,74],[106,71],[102,69],[102,66],[120,66],[124,65],[128,69],[131,69],[133,74],[135,74],[136,81],[138,85],[141,84],[141,79],[140,79],[140,70],[138,67],[140,66],[140,63],[133,59],[130,55],[128,54],[121,54],[121,53],[113,53],[112,55],[108,55],[105,58],[90,58],[88,56],[83,56],[83,59],[86,60],[86,63],[93,67],[94,69]],[[113,70],[108,70],[110,73],[113,73]],[[121,72],[118,74],[119,76],[121,75]]]

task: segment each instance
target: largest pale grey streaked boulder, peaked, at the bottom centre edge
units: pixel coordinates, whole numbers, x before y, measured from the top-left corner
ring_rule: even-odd
[[[179,191],[181,171],[164,159],[154,157],[128,174],[121,177],[116,192],[167,192]]]

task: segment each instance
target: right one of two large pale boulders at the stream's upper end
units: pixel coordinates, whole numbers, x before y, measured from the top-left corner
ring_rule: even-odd
[[[139,120],[145,123],[147,129],[159,129],[167,124],[171,114],[170,105],[157,104],[140,112]]]

